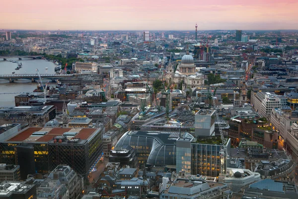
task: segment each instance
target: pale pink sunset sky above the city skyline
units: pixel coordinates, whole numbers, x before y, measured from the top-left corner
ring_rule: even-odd
[[[298,0],[4,0],[0,29],[298,29]]]

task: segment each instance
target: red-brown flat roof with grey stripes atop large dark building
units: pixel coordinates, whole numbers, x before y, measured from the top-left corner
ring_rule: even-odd
[[[44,128],[29,127],[4,142],[49,142],[56,136],[66,135],[68,139],[88,139],[98,128]]]

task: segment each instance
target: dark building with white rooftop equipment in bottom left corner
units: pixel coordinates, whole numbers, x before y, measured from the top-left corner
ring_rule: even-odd
[[[21,181],[1,182],[0,199],[37,199],[36,185]]]

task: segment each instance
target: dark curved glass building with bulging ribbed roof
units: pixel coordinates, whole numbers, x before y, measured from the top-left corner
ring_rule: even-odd
[[[189,133],[181,137],[194,138]],[[139,164],[176,165],[176,140],[179,132],[127,131],[115,147],[129,145],[138,155]]]

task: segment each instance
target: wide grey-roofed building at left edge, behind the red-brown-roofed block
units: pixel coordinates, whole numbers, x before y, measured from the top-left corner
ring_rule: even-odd
[[[55,116],[53,105],[0,107],[0,121],[9,123],[27,122],[29,126],[41,127]]]

